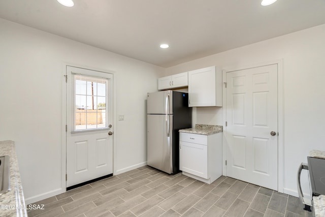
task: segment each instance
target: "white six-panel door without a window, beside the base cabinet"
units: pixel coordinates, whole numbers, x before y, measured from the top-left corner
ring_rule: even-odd
[[[278,190],[277,65],[229,72],[226,82],[226,175]]]

